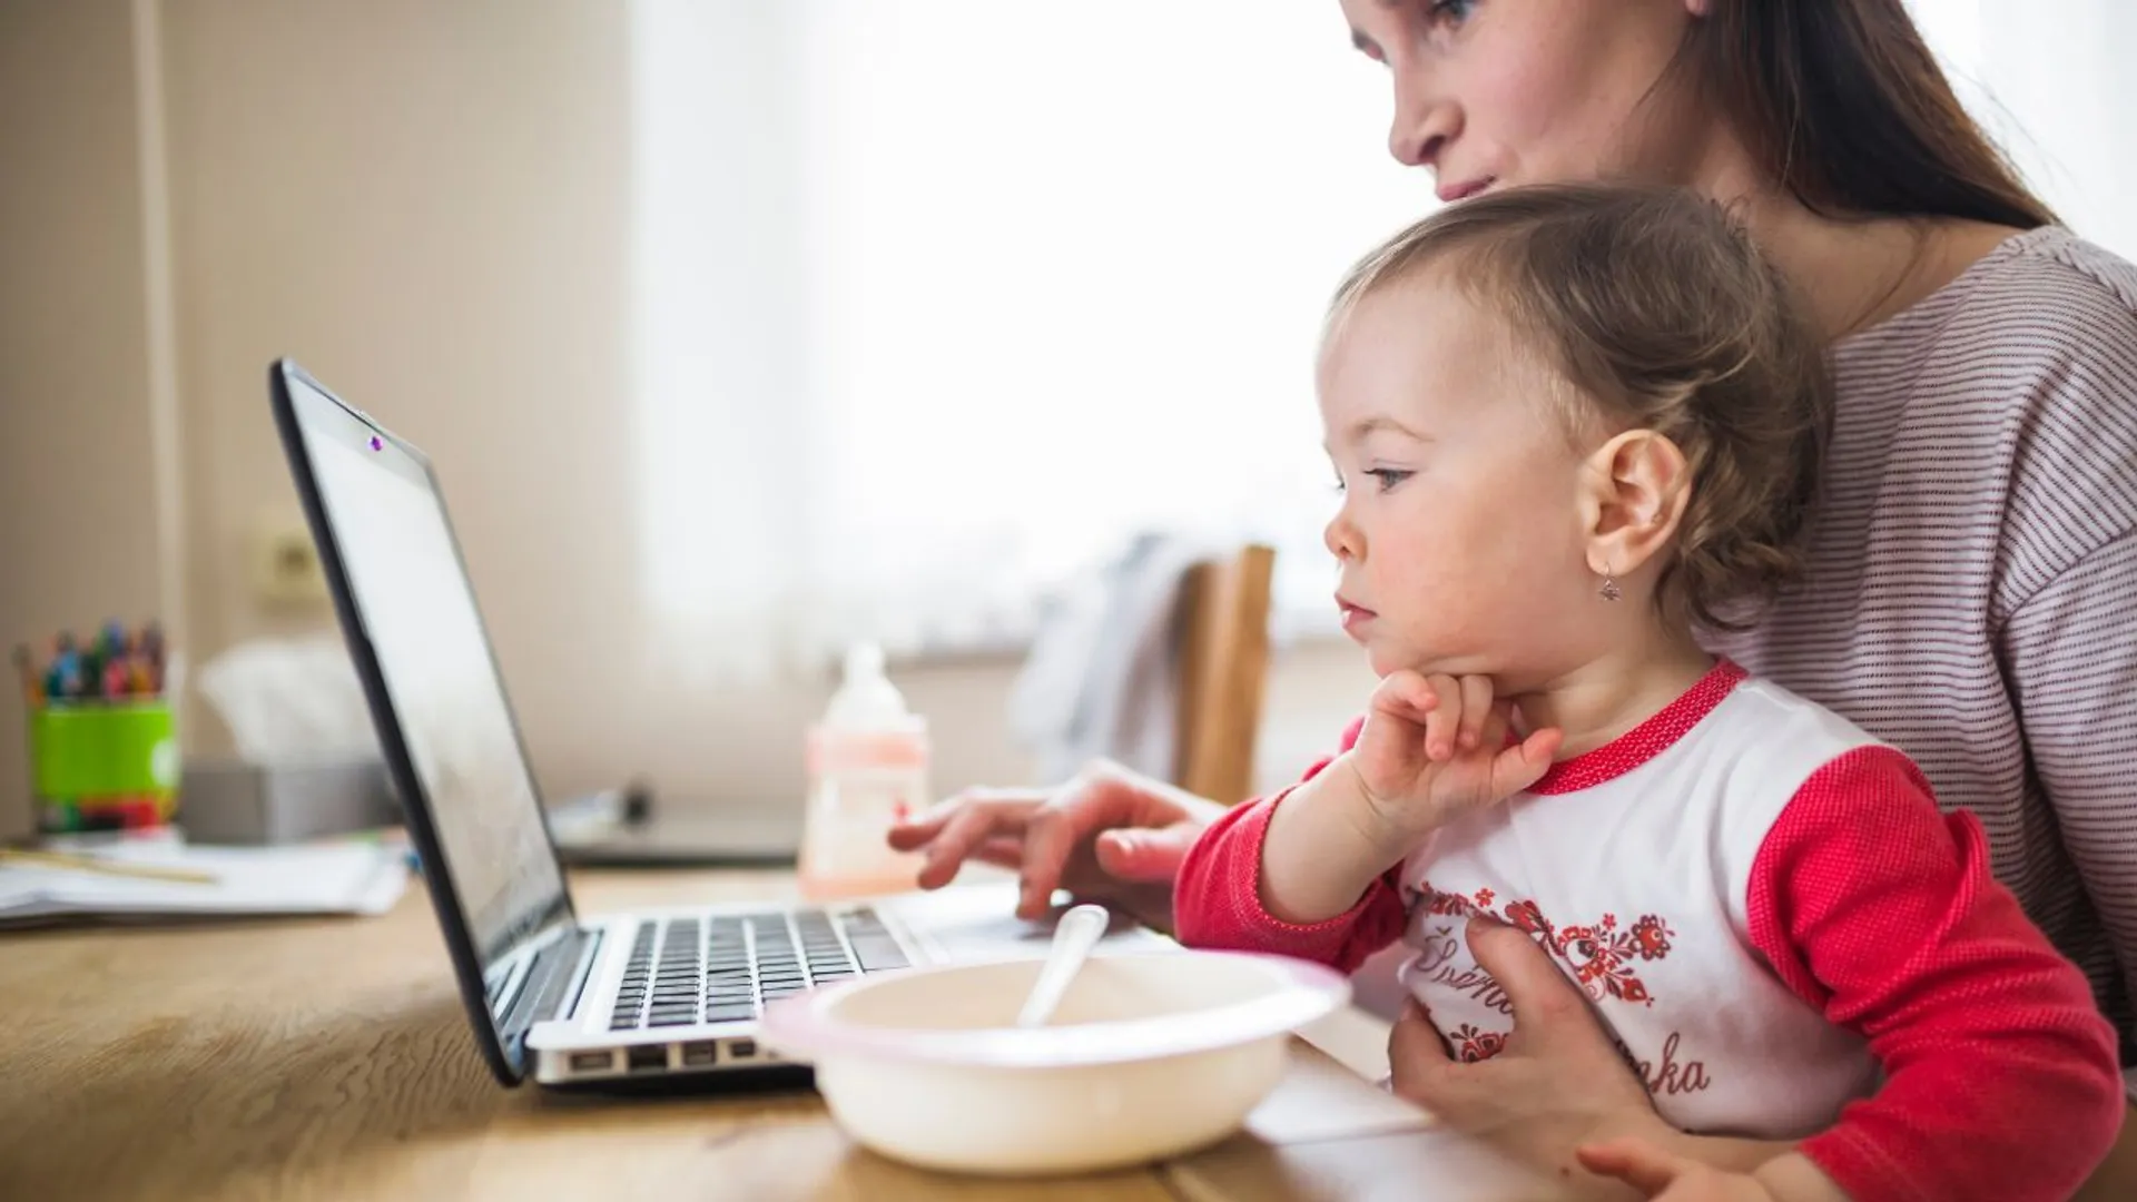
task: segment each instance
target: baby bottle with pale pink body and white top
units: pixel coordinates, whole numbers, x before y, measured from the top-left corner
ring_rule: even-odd
[[[846,678],[808,731],[801,894],[814,900],[915,888],[921,858],[885,843],[927,802],[927,721],[883,674],[883,648],[846,652]]]

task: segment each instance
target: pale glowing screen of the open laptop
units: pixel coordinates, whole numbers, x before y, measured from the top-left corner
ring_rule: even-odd
[[[487,975],[568,903],[444,498],[412,447],[303,376],[288,376],[288,394],[350,603],[427,800],[444,856],[438,875]]]

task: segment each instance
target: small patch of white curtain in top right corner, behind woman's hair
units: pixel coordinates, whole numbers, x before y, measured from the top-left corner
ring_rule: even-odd
[[[1908,0],[1990,137],[2079,235],[2137,259],[2137,4]]]

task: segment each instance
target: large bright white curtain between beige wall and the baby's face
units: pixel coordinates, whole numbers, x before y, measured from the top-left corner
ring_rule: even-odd
[[[1333,2],[639,0],[635,47],[667,646],[1011,642],[1141,526],[1329,612],[1321,310],[1434,203]]]

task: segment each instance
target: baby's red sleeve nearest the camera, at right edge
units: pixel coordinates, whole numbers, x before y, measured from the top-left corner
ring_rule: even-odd
[[[2069,1198],[2122,1127],[2116,1033],[2092,988],[1943,815],[1904,755],[1821,768],[1752,862],[1750,941],[1861,1033],[1874,1097],[1801,1144],[1855,1202]]]

